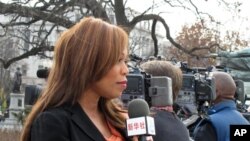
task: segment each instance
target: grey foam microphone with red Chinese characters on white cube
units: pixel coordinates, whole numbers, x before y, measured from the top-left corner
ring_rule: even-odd
[[[127,135],[139,136],[139,141],[146,141],[146,136],[155,135],[154,118],[149,115],[148,103],[140,98],[128,104],[129,119],[126,120]]]

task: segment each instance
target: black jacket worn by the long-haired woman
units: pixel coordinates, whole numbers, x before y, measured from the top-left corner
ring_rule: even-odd
[[[125,140],[125,130],[118,130]],[[105,141],[79,104],[46,110],[32,124],[30,141]]]

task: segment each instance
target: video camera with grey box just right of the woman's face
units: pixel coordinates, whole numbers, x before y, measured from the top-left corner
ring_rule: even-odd
[[[125,107],[136,98],[144,99],[149,106],[173,104],[171,78],[151,76],[138,68],[135,70],[127,75],[127,88],[121,96]]]

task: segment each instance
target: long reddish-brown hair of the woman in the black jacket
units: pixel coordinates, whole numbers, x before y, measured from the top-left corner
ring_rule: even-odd
[[[83,92],[100,80],[119,60],[128,47],[128,35],[116,25],[85,17],[65,31],[54,49],[54,63],[47,86],[26,118],[21,141],[27,141],[36,116],[45,109],[77,102]],[[99,100],[100,110],[109,122],[124,128],[125,118],[110,99]]]

